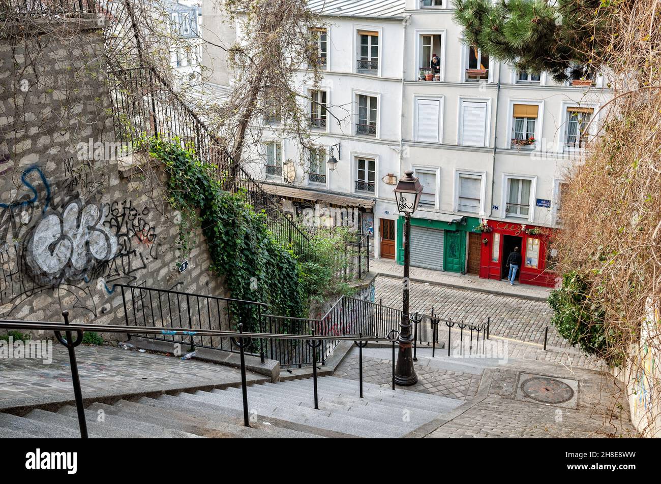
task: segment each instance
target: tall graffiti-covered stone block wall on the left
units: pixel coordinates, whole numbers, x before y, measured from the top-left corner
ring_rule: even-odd
[[[98,25],[58,32],[0,38],[0,318],[124,324],[119,283],[225,296],[163,173],[120,160]]]

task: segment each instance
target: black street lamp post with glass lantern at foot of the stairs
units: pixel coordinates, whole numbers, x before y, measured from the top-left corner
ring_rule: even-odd
[[[413,176],[413,172],[404,172],[403,178],[395,188],[395,201],[397,209],[404,214],[404,294],[402,300],[402,319],[399,322],[399,355],[395,368],[395,383],[401,386],[410,386],[418,382],[418,376],[413,367],[413,332],[411,331],[410,315],[408,314],[408,267],[410,258],[410,217],[418,208],[422,185],[420,180]]]

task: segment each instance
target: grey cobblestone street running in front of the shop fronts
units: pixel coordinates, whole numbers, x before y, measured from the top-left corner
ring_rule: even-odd
[[[401,309],[401,279],[377,277],[375,298],[385,306]],[[490,318],[491,335],[533,343],[543,343],[552,314],[546,302],[414,282],[410,284],[410,308],[412,312],[425,314],[431,314],[433,308],[434,314],[441,318],[467,323],[486,322]],[[547,344],[570,347],[553,326],[549,326]]]

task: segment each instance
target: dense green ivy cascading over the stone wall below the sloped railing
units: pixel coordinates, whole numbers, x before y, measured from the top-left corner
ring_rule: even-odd
[[[182,252],[190,252],[194,228],[201,226],[211,269],[225,277],[232,298],[266,302],[279,316],[307,318],[311,294],[305,275],[292,252],[268,231],[266,215],[256,213],[243,194],[223,191],[215,168],[177,140],[149,139],[149,154],[165,164],[169,202],[182,214]]]

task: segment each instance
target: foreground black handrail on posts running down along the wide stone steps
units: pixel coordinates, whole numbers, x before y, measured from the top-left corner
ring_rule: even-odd
[[[104,333],[127,333],[143,334],[148,333],[152,335],[173,335],[178,337],[188,337],[194,335],[197,337],[209,337],[215,339],[230,339],[232,344],[239,348],[241,355],[241,394],[243,403],[243,425],[250,427],[250,420],[248,415],[248,391],[247,391],[247,378],[245,366],[245,349],[253,346],[253,339],[259,341],[270,339],[286,339],[290,341],[300,341],[301,345],[306,344],[311,349],[313,363],[313,399],[315,409],[319,409],[319,402],[317,396],[317,349],[321,347],[323,336],[315,335],[312,333],[307,334],[272,334],[272,333],[251,333],[243,332],[243,324],[239,324],[239,331],[218,331],[214,329],[198,329],[191,331],[190,329],[159,329],[159,328],[144,328],[138,326],[100,326],[95,324],[71,324],[69,322],[69,312],[63,311],[63,323],[56,322],[41,322],[41,321],[18,321],[18,320],[0,320],[0,328],[5,329],[24,329],[30,331],[53,331],[56,339],[67,348],[69,352],[69,363],[71,366],[71,380],[73,384],[73,394],[76,402],[76,410],[78,415],[78,424],[81,432],[81,438],[87,438],[87,419],[85,417],[85,407],[83,405],[83,390],[78,373],[78,364],[75,355],[75,347],[83,342],[83,335],[85,331],[103,331]],[[65,336],[62,335],[64,333]],[[75,333],[75,339],[73,337]],[[388,338],[369,337],[365,335],[352,335],[337,337],[337,339],[345,341],[354,341],[359,346],[364,346],[368,341],[375,342],[389,342],[393,345],[393,390],[395,390],[395,341],[398,334],[393,332]],[[360,397],[362,398],[362,350],[360,351]]]

